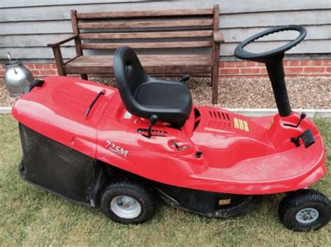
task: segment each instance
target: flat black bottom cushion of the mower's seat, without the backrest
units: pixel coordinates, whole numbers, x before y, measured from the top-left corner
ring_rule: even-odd
[[[184,83],[178,81],[142,83],[135,90],[134,97],[141,106],[155,109],[160,120],[165,122],[184,122],[191,113],[191,93]]]

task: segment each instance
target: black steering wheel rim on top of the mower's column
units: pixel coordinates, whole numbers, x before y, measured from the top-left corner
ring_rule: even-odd
[[[260,54],[255,54],[244,50],[244,47],[249,45],[254,40],[281,31],[298,31],[300,34],[297,36],[297,38],[295,38],[295,40],[288,42],[286,45],[283,45],[282,47],[273,49],[272,51],[265,51]],[[282,59],[284,57],[284,52],[291,49],[292,47],[295,47],[295,45],[299,44],[304,39],[304,37],[306,37],[306,35],[307,35],[307,31],[302,26],[297,26],[297,25],[275,26],[272,29],[267,29],[266,31],[257,33],[256,35],[253,35],[247,38],[246,40],[242,41],[235,49],[235,56],[240,59],[263,62],[263,63],[267,63],[268,61],[274,61],[276,59],[278,60],[279,58]]]

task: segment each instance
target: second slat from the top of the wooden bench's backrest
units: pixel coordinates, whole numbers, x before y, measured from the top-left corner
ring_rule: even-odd
[[[212,26],[213,19],[183,19],[147,22],[84,22],[78,29],[146,29],[155,27]]]

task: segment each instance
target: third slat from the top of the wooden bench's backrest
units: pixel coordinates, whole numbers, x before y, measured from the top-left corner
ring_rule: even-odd
[[[160,32],[137,32],[137,33],[80,33],[82,40],[108,40],[108,39],[131,39],[131,38],[193,38],[211,37],[212,30],[203,31],[160,31]]]

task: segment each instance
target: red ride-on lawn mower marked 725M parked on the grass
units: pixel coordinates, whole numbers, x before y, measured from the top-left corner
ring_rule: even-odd
[[[245,51],[279,31],[300,35],[261,54]],[[286,228],[328,224],[330,200],[307,186],[325,175],[320,132],[295,113],[284,81],[284,52],[301,42],[301,26],[280,26],[244,40],[237,58],[265,63],[279,113],[247,118],[192,105],[179,81],[149,77],[129,47],[115,51],[118,90],[71,77],[33,81],[13,106],[23,158],[20,175],[47,191],[95,207],[120,223],[154,214],[157,194],[173,207],[228,217],[254,209],[261,195],[279,203]]]

